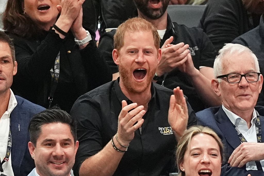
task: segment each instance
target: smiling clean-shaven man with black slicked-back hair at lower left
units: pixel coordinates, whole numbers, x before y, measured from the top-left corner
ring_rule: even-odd
[[[36,168],[28,176],[70,176],[79,146],[73,118],[63,110],[45,110],[32,118],[29,133]]]

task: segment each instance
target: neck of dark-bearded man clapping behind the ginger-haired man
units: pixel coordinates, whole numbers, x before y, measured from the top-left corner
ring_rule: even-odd
[[[167,16],[168,16],[168,12],[166,10],[165,13],[160,18],[158,18],[158,19],[150,19],[150,18],[146,17],[145,15],[143,15],[138,10],[138,17],[144,18],[147,21],[151,22],[153,25],[155,25],[157,27],[157,30],[164,30],[164,29],[167,28]]]

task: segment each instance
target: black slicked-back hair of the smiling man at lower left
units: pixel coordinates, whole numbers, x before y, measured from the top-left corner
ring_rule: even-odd
[[[36,114],[29,123],[30,141],[35,146],[41,133],[41,127],[50,123],[68,124],[74,139],[74,143],[76,142],[76,123],[74,119],[66,111],[60,109],[47,109]]]

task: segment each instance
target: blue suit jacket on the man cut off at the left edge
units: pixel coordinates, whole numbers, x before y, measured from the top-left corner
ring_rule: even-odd
[[[45,110],[22,97],[15,96],[17,105],[10,114],[12,148],[11,161],[15,176],[27,176],[35,168],[27,143],[29,142],[28,126],[30,119]],[[18,129],[18,125],[20,129]]]

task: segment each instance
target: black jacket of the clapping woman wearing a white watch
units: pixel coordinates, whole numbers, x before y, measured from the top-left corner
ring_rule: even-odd
[[[94,42],[79,50],[71,33],[61,39],[54,30],[30,40],[10,36],[14,39],[18,63],[12,90],[14,94],[35,104],[46,108],[49,105],[52,84],[50,69],[54,67],[59,52],[59,81],[52,105],[58,104],[61,109],[69,112],[79,96],[111,81],[107,65],[97,57]]]

